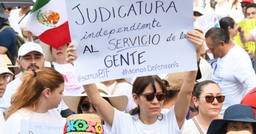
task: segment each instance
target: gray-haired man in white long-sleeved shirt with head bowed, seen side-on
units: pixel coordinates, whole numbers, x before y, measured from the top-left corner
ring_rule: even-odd
[[[211,53],[218,57],[212,80],[221,88],[225,101],[221,114],[231,105],[239,104],[242,98],[256,87],[256,75],[247,52],[230,40],[221,28],[211,28],[205,34]]]

